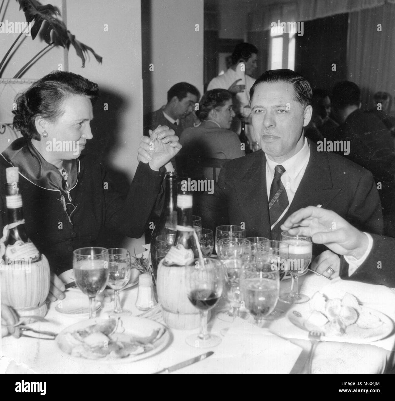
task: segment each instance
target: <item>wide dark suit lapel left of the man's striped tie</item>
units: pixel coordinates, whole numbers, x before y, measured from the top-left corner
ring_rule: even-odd
[[[247,237],[270,238],[268,195],[266,190],[266,158],[259,150],[246,156],[246,169],[234,175],[234,188],[238,209],[245,223]],[[231,222],[238,224],[240,222]]]

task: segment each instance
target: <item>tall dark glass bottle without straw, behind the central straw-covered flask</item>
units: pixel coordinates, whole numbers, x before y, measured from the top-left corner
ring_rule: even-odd
[[[156,277],[158,263],[174,244],[177,233],[177,174],[165,176],[165,206],[151,234],[151,261]]]

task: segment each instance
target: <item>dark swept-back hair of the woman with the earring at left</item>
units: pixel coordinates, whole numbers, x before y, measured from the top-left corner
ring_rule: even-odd
[[[41,116],[54,122],[64,110],[62,103],[71,95],[87,96],[95,99],[99,95],[97,83],[81,75],[53,71],[34,82],[26,91],[15,99],[14,128],[27,139],[40,140],[35,126],[35,119]]]

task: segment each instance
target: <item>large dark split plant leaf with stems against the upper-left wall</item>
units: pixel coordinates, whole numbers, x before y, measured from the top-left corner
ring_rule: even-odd
[[[67,49],[70,48],[72,45],[77,52],[77,56],[80,57],[82,60],[82,67],[85,67],[85,61],[89,56],[89,52],[91,52],[98,63],[101,63],[103,58],[99,56],[95,51],[81,43],[75,38],[69,30],[67,30],[67,26],[64,22],[60,19],[60,11],[57,7],[52,6],[51,4],[42,5],[37,0],[16,0],[19,3],[19,9],[22,10],[25,14],[26,22],[32,23],[32,30],[31,36],[32,40],[36,38],[38,32],[42,36],[42,40],[47,43],[44,49],[38,52],[28,63],[26,63],[19,71],[16,73],[14,78],[18,78],[22,75],[22,73],[26,70],[26,68],[34,63],[34,59],[38,57],[44,50],[51,46],[62,46]],[[4,0],[3,2],[4,3]],[[1,9],[2,7],[0,7]],[[1,69],[4,65],[8,55],[12,48],[18,42],[20,36],[22,36],[23,32],[20,33],[18,38],[14,41],[10,49],[7,51],[6,55],[3,57],[0,63],[0,76],[1,76]]]

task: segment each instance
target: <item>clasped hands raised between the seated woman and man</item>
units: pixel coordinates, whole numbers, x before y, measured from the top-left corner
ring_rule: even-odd
[[[150,137],[141,137],[137,160],[149,163],[152,170],[159,169],[167,164],[181,149],[178,137],[167,126],[159,126],[149,130]]]

